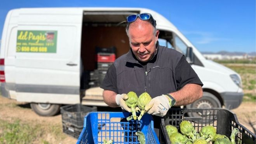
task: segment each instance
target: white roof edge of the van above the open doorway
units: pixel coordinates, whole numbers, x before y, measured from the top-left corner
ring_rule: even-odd
[[[174,31],[177,28],[164,16],[151,9],[139,7],[52,7],[52,8],[20,8],[11,10],[19,14],[80,14],[80,12],[133,12],[133,13],[150,13],[157,21],[157,29]]]

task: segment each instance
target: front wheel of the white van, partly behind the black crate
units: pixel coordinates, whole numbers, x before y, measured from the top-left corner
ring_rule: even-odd
[[[188,104],[186,108],[197,108],[197,109],[207,109],[207,108],[221,108],[221,103],[215,97],[215,95],[209,92],[203,92],[203,97],[193,102],[192,104]],[[188,113],[190,117],[200,117],[202,115],[209,115],[210,113]],[[212,115],[212,114],[211,114]],[[203,118],[205,119],[205,118]],[[209,119],[209,118],[206,118]]]

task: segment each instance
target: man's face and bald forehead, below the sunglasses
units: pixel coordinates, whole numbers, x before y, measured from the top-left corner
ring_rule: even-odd
[[[153,30],[152,24],[140,19],[129,27],[132,52],[141,62],[147,62],[154,56],[159,31],[153,35]]]

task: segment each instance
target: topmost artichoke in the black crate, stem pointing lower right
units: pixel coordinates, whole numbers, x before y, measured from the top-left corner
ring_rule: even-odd
[[[197,139],[197,132],[195,131],[195,128],[193,127],[192,123],[183,120],[179,124],[179,127],[181,130],[181,134],[186,135],[189,139],[192,139],[192,141],[195,141],[195,139]]]

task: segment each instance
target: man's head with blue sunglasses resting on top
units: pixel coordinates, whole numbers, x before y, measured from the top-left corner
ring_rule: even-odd
[[[141,62],[149,61],[155,54],[159,34],[155,19],[144,13],[128,16],[127,22],[126,33],[133,54]]]

